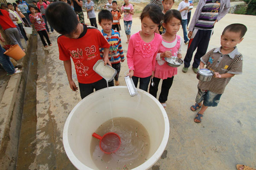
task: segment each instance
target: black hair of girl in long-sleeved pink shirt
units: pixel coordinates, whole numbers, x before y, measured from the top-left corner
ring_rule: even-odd
[[[149,17],[153,23],[160,24],[161,20],[163,20],[163,13],[161,8],[154,3],[150,3],[143,9],[140,14],[140,20],[142,21],[144,17]]]

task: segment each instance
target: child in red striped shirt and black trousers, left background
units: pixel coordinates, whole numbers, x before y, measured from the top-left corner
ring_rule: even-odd
[[[31,11],[31,14],[29,14],[29,20],[32,24],[34,24],[35,29],[38,32],[44,47],[48,47],[48,45],[52,46],[52,43],[50,42],[48,34],[46,32],[45,23],[42,15],[40,13],[35,13],[35,8],[33,6],[29,6],[29,11]],[[46,38],[48,45],[44,41],[44,37]]]

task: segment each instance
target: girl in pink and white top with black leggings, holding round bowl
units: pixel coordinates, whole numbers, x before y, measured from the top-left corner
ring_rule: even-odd
[[[159,102],[166,108],[166,101],[168,98],[169,90],[172,87],[174,76],[177,74],[177,67],[167,65],[164,57],[178,57],[181,58],[182,38],[177,35],[181,25],[180,11],[171,9],[164,15],[163,26],[166,32],[162,34],[163,40],[157,54],[157,62],[154,71],[153,81],[154,87],[150,85],[149,93],[157,98],[157,91],[160,79],[163,79]]]

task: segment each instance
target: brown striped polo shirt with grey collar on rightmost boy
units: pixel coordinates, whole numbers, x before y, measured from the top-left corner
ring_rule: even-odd
[[[220,74],[242,74],[243,56],[238,52],[237,47],[229,54],[221,54],[221,47],[213,48],[201,57],[201,62],[206,68]],[[216,94],[223,94],[226,85],[230,82],[230,78],[214,78],[209,82],[199,80],[198,88],[209,90]]]

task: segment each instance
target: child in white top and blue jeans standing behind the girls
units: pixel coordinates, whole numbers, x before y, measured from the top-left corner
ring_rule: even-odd
[[[183,37],[184,37],[184,43],[189,43],[188,33],[187,33],[187,23],[188,23],[188,10],[189,10],[189,0],[183,0],[180,2],[177,10],[180,11],[182,22],[181,26],[183,29]]]

